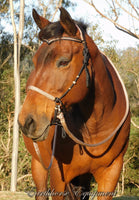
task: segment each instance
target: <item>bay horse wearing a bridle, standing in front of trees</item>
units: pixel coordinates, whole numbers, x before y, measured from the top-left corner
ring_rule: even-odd
[[[47,199],[48,193],[53,200],[89,199],[93,176],[98,199],[110,200],[129,140],[125,86],[87,27],[64,8],[58,22],[35,10],[33,18],[42,44],[18,121],[32,155],[36,199]]]

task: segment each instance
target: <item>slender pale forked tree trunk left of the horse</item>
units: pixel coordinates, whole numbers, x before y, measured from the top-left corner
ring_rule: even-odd
[[[20,48],[24,27],[24,0],[20,0],[20,23],[19,34],[17,36],[16,25],[14,22],[13,1],[9,0],[11,9],[11,20],[14,31],[14,87],[15,87],[15,111],[14,111],[14,126],[13,126],[13,151],[12,151],[12,173],[11,173],[11,191],[16,191],[17,185],[17,160],[18,160],[18,141],[19,141],[19,126],[18,114],[20,109]]]

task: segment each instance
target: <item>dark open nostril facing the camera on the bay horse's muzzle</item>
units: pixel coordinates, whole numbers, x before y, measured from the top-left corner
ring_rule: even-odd
[[[32,116],[28,116],[26,118],[26,121],[25,121],[25,125],[24,125],[24,128],[23,128],[23,132],[25,131],[25,133],[29,133],[29,134],[32,134],[33,132],[35,132],[36,130],[36,122],[35,120],[32,118]]]

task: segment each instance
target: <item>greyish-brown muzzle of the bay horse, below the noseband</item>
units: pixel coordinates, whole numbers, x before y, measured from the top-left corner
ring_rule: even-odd
[[[32,115],[28,115],[24,124],[22,124],[19,115],[18,124],[23,134],[33,141],[43,141],[48,136],[50,121],[45,116],[35,120]]]

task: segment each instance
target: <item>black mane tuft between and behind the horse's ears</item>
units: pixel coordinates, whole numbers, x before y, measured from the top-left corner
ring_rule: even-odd
[[[76,22],[76,24],[80,27],[80,29],[84,32],[86,32],[87,25],[83,22]],[[53,22],[48,24],[44,29],[42,29],[39,32],[39,39],[44,40],[44,39],[50,39],[50,38],[57,38],[61,37],[62,34],[64,33],[64,28],[61,26],[60,22]]]

